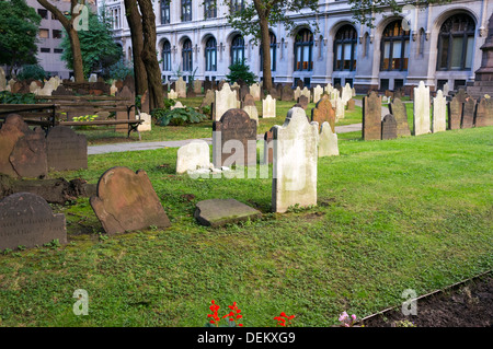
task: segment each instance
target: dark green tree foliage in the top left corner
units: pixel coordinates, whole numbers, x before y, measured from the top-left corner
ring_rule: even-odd
[[[0,1],[0,65],[35,65],[42,18],[25,0]]]

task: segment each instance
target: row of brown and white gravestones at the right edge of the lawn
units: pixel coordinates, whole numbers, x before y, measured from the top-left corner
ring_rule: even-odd
[[[423,81],[414,88],[413,101],[413,135],[426,135],[447,129],[484,127],[493,125],[493,101],[481,98],[478,103],[462,93],[456,94],[447,103],[442,90],[438,90],[433,103],[429,98],[429,88]],[[410,136],[405,105],[400,98],[393,98],[389,104],[390,114],[381,117],[382,97],[370,92],[363,98],[363,139],[380,140]],[[431,114],[431,106],[433,113]],[[433,115],[433,120],[432,116]]]

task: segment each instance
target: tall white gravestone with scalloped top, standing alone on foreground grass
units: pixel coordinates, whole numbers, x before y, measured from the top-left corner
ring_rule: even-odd
[[[273,127],[272,208],[317,205],[317,141],[319,126],[302,108],[291,108],[283,126]]]

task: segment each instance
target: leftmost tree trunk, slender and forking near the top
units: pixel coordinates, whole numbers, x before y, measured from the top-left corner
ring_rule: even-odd
[[[83,62],[82,62],[82,54],[80,51],[80,42],[79,42],[79,35],[77,31],[73,27],[73,20],[72,16],[70,20],[67,19],[64,13],[61,13],[60,10],[58,10],[55,5],[48,2],[48,0],[37,0],[37,2],[44,7],[46,10],[53,13],[53,15],[61,23],[64,28],[67,31],[70,39],[70,47],[72,49],[72,56],[73,56],[73,78],[76,79],[76,82],[84,82],[84,69],[83,69]],[[71,0],[70,5],[70,13],[73,13],[74,7],[78,4],[78,1]]]

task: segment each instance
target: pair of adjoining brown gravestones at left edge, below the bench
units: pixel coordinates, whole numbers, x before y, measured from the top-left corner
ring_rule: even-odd
[[[65,126],[55,126],[46,135],[39,128],[32,130],[16,114],[7,116],[0,128],[0,174],[36,178],[45,177],[48,170],[87,167],[85,136]]]

